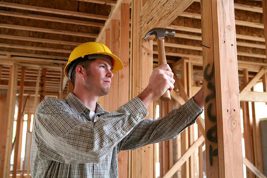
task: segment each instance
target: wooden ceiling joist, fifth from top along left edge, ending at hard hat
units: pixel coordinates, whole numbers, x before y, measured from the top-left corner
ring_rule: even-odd
[[[37,47],[37,46],[25,46],[25,45],[7,44],[7,43],[0,43],[0,47],[15,48],[15,49],[28,49],[28,50],[37,50],[37,51],[49,51],[49,52],[62,52],[62,53],[68,53],[68,54],[70,54],[72,51],[72,50],[67,50],[67,49],[44,48],[44,47]]]

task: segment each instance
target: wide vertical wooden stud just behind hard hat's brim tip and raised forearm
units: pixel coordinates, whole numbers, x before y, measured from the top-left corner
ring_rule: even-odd
[[[130,6],[121,4],[120,12],[120,60],[124,68],[118,72],[118,106],[129,101],[129,32],[130,32]],[[118,154],[119,177],[128,176],[128,151]]]

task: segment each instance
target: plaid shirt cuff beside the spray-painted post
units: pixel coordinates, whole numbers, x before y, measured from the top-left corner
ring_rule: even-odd
[[[188,113],[188,115],[192,118],[197,119],[197,117],[203,112],[203,109],[201,109],[197,103],[194,101],[193,97],[190,98],[185,104],[185,111]]]

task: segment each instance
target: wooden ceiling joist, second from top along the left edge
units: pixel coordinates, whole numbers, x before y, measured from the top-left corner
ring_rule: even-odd
[[[94,27],[104,26],[103,23],[97,23],[97,22],[79,21],[79,20],[74,20],[74,19],[51,17],[51,16],[40,16],[40,15],[26,14],[26,13],[12,12],[12,11],[0,11],[0,15],[35,19],[35,20],[41,20],[41,21],[52,21],[52,22],[60,22],[60,23],[67,23],[67,24],[75,24],[75,25],[86,25],[86,26],[94,26]]]

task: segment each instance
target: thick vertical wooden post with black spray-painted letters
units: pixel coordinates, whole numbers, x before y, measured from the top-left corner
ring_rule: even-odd
[[[233,0],[201,0],[201,27],[207,177],[243,177]]]

